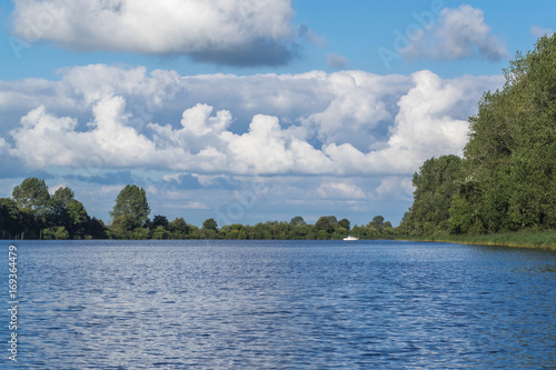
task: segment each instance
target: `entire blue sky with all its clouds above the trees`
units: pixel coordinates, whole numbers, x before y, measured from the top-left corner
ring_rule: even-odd
[[[130,183],[197,226],[396,226],[556,2],[0,0],[0,197],[38,177],[109,223]]]

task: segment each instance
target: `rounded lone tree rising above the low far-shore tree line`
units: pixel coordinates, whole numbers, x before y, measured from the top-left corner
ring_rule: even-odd
[[[113,221],[120,217],[126,217],[126,222],[129,222],[132,229],[142,227],[149,214],[150,207],[145,189],[129,184],[120,191],[116,198],[113,210],[110,212]]]

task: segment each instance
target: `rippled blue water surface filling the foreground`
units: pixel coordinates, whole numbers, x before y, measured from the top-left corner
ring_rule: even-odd
[[[18,247],[27,368],[556,367],[552,252],[393,241]]]

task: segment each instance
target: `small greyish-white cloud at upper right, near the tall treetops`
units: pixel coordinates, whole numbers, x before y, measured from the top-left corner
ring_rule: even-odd
[[[464,4],[443,9],[436,24],[414,36],[400,50],[409,58],[466,59],[486,58],[497,61],[507,56],[506,44],[492,33],[483,10]]]

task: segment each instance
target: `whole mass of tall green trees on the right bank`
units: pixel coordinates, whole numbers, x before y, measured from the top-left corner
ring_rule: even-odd
[[[414,174],[398,227],[411,236],[556,228],[556,34],[518,52],[504,88],[469,118],[464,158],[431,158]]]

